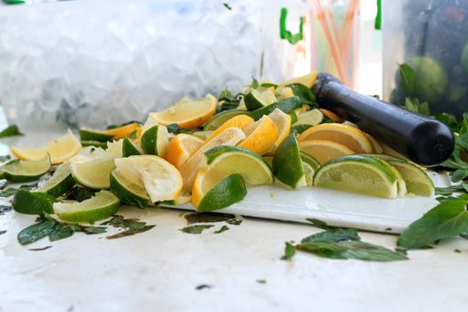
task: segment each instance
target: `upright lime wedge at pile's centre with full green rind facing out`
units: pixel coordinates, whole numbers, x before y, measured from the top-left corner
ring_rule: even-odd
[[[273,174],[284,185],[291,188],[307,185],[295,134],[288,135],[276,150],[273,157]]]

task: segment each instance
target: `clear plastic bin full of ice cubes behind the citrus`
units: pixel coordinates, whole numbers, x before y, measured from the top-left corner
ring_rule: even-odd
[[[0,9],[0,102],[22,128],[144,121],[185,95],[310,70],[301,0],[82,0]],[[304,23],[307,21],[304,19]],[[307,25],[302,25],[307,27]]]

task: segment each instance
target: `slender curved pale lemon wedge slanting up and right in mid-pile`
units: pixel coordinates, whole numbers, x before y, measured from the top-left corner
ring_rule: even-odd
[[[242,130],[238,127],[228,127],[225,131],[219,135],[211,138],[205,142],[197,152],[194,152],[188,160],[186,160],[182,166],[179,167],[180,174],[184,178],[184,189],[185,192],[190,192],[193,186],[193,180],[196,177],[198,171],[206,165],[205,152],[210,148],[218,145],[235,145],[238,144],[245,138]]]

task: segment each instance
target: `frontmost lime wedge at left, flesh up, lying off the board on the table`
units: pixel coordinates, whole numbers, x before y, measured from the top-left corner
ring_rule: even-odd
[[[109,191],[101,191],[86,201],[55,202],[53,211],[67,222],[87,222],[109,218],[120,207],[120,200]]]

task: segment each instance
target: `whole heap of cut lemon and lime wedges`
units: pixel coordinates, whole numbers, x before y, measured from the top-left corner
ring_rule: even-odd
[[[18,160],[0,172],[28,181],[59,165],[33,192],[60,198],[75,185],[96,190],[86,201],[53,203],[57,216],[70,222],[110,217],[120,202],[222,209],[242,201],[254,185],[431,196],[424,168],[316,107],[315,79],[316,72],[280,85],[256,83],[236,95],[184,98],[151,112],[144,124],[81,128],[81,140],[69,132],[37,149],[12,147]]]

